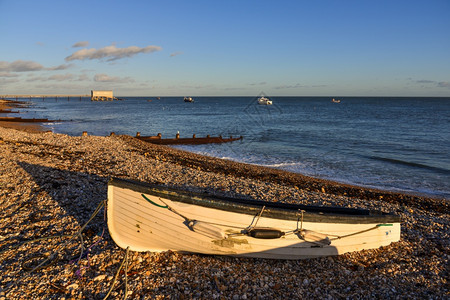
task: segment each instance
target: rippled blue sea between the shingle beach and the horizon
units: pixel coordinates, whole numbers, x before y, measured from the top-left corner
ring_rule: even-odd
[[[24,118],[56,133],[243,136],[176,146],[341,183],[450,199],[450,97],[30,98]],[[27,100],[28,101],[28,100]]]

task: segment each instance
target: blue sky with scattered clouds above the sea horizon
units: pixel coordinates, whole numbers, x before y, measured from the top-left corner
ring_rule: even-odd
[[[0,0],[0,95],[450,97],[450,0]]]

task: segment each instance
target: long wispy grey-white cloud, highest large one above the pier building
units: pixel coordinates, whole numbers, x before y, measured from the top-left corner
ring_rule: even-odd
[[[139,53],[152,53],[162,50],[159,46],[147,46],[144,48],[137,46],[130,46],[127,48],[117,48],[115,45],[107,46],[101,49],[81,49],[70,56],[66,57],[66,61],[85,60],[85,59],[103,59],[106,61],[113,61],[125,57],[132,57]]]

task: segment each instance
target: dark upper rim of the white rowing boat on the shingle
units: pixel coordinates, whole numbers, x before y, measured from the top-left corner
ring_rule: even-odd
[[[381,211],[223,197],[122,178],[112,178],[108,182],[109,185],[131,189],[135,192],[162,197],[175,202],[248,215],[257,215],[261,212],[262,207],[265,207],[264,217],[274,219],[298,221],[301,216],[300,211],[303,210],[304,222],[348,224],[400,222],[399,216]]]

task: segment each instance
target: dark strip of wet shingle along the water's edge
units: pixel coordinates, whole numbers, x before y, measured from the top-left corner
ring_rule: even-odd
[[[283,184],[298,189],[328,193],[334,196],[355,197],[365,200],[382,199],[383,201],[399,204],[416,203],[418,208],[423,206],[422,208],[434,209],[440,212],[445,212],[442,208],[445,208],[445,203],[449,200],[444,197],[430,197],[427,195],[394,192],[340,183],[337,181],[310,177],[300,173],[205,156],[175,148],[158,148],[153,145],[147,146],[148,143],[137,141],[135,138],[128,135],[120,135],[119,137],[127,143],[145,151],[149,157],[156,158],[161,153],[164,153],[166,155],[166,160],[169,162],[185,165],[187,167],[195,167],[207,172],[224,175],[232,174],[233,176]],[[443,204],[444,206],[442,206]]]

